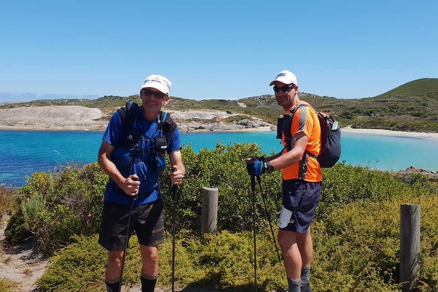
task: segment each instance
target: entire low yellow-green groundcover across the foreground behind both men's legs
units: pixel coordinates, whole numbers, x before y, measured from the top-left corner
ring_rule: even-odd
[[[391,201],[362,200],[334,207],[325,221],[312,224],[314,261],[311,284],[316,291],[400,290],[399,237],[400,205],[417,200],[405,196]],[[438,204],[436,196],[421,196],[421,245],[418,291],[438,290]],[[259,220],[260,218],[257,218]],[[274,226],[275,234],[277,226]],[[257,232],[259,290],[287,287],[283,264],[279,264],[269,228]],[[51,258],[39,281],[41,291],[94,292],[103,288],[106,252],[95,237],[75,237],[75,243]],[[160,245],[158,286],[171,282],[172,244],[170,234]],[[252,290],[254,253],[252,232],[228,231],[194,236],[178,231],[175,253],[175,286],[211,286],[215,290]],[[139,246],[132,238],[124,279],[139,285]]]

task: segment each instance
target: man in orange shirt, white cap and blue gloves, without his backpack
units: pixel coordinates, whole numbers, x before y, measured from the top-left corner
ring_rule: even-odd
[[[310,222],[321,196],[321,167],[315,155],[321,151],[321,127],[317,113],[298,98],[297,78],[281,71],[269,84],[275,99],[286,113],[294,112],[290,135],[283,137],[285,148],[265,161],[253,161],[252,175],[283,171],[283,210],[278,219],[278,242],[285,261],[289,292],[311,292],[310,263],[313,254]],[[301,105],[298,109],[298,107]],[[305,105],[305,106],[303,106]],[[296,109],[296,111],[294,111]]]

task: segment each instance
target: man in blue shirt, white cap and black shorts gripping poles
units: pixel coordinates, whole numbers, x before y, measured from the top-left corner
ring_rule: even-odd
[[[99,243],[108,250],[105,282],[118,291],[131,203],[134,210],[129,235],[136,230],[142,259],[142,292],[153,291],[158,276],[158,245],[164,242],[162,194],[159,174],[168,153],[172,184],[185,174],[178,127],[166,125],[161,108],[169,103],[171,82],[161,75],[148,76],[140,90],[142,105],[116,111],[108,123],[99,149],[98,163],[109,176],[105,191]]]

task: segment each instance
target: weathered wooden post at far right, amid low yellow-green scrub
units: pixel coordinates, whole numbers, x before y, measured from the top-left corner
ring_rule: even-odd
[[[402,292],[417,284],[420,266],[420,205],[400,206],[400,282]]]

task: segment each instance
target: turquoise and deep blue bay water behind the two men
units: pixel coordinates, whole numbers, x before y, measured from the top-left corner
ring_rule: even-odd
[[[71,161],[92,163],[103,132],[90,131],[0,131],[0,183],[22,186],[26,175],[53,170]],[[184,145],[194,151],[222,144],[255,142],[270,153],[283,147],[275,132],[181,134]],[[438,170],[438,139],[390,137],[342,133],[342,156],[348,164],[379,170],[401,170],[410,166]]]

